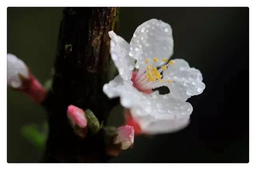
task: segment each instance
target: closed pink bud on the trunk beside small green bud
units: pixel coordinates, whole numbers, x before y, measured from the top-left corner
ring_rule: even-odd
[[[87,133],[87,119],[85,116],[84,110],[74,106],[69,105],[67,111],[68,119],[70,120],[70,124],[74,129],[75,133],[84,138]]]

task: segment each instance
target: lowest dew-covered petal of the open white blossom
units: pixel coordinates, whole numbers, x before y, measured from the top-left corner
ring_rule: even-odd
[[[158,92],[150,95],[148,106],[133,107],[131,114],[139,123],[142,132],[148,134],[170,133],[189,124],[193,108],[190,103],[176,100]]]

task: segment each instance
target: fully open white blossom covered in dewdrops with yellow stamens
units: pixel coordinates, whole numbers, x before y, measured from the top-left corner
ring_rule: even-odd
[[[193,108],[186,100],[201,94],[205,85],[200,71],[185,60],[167,62],[174,46],[171,26],[148,20],[135,30],[130,45],[113,31],[109,36],[119,75],[104,85],[104,93],[109,98],[120,97],[145,133],[168,133],[187,126]],[[152,91],[160,86],[167,86],[170,93]]]

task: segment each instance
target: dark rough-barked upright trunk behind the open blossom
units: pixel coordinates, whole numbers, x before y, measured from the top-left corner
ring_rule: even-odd
[[[73,104],[89,108],[98,120],[108,118],[116,100],[108,100],[102,86],[114,78],[108,32],[116,30],[118,9],[65,8],[60,24],[52,89],[43,105],[49,112],[49,136],[44,162],[106,162],[103,131],[81,139],[68,123]]]

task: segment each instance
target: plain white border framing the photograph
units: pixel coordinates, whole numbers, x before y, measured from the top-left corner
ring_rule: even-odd
[[[6,117],[6,102],[7,102],[7,94],[6,94],[6,23],[7,23],[7,7],[8,6],[248,6],[250,12],[250,162],[249,164],[7,164],[6,163],[6,136],[7,136],[7,117]],[[256,151],[256,138],[254,129],[256,129],[256,109],[252,107],[255,105],[256,101],[254,96],[256,96],[255,88],[256,81],[256,26],[255,26],[255,17],[256,16],[256,8],[254,6],[254,1],[250,0],[157,0],[150,2],[149,0],[2,0],[0,6],[0,17],[1,24],[0,34],[1,39],[0,47],[1,47],[1,57],[0,57],[0,104],[2,115],[0,118],[0,135],[4,137],[0,140],[0,169],[26,169],[26,170],[45,170],[61,168],[61,170],[70,170],[74,168],[81,169],[137,169],[137,168],[147,168],[147,169],[158,169],[158,168],[174,168],[174,169],[196,169],[196,170],[216,170],[218,168],[232,168],[232,170],[241,170],[241,169],[255,169],[255,151]],[[238,61],[239,66],[239,61]],[[243,90],[243,89],[238,89]],[[238,99],[239,100],[239,99]],[[241,99],[242,100],[242,99]],[[246,113],[241,113],[246,114]],[[57,167],[58,166],[58,167]],[[253,168],[254,167],[254,168]]]

